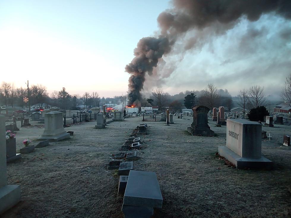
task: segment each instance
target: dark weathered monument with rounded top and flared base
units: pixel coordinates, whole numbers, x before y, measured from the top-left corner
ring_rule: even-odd
[[[193,110],[193,122],[187,131],[192,136],[214,136],[214,132],[208,126],[209,108],[206,106],[195,106]]]

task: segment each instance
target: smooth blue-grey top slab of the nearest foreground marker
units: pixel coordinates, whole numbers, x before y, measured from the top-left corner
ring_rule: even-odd
[[[155,172],[129,172],[123,204],[150,208],[162,208],[163,197]]]

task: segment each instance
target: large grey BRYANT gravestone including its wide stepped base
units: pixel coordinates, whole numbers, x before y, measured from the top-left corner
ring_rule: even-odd
[[[262,156],[262,125],[241,119],[227,120],[226,146],[219,146],[219,155],[236,168],[272,168],[273,162]]]

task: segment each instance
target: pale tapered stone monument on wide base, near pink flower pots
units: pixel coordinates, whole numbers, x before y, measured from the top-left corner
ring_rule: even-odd
[[[61,141],[69,139],[70,133],[64,130],[63,114],[58,111],[51,111],[45,114],[45,131],[40,140]]]

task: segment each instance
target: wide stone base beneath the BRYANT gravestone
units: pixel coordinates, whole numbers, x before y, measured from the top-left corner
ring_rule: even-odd
[[[235,164],[236,168],[244,169],[272,169],[273,162],[265,157],[241,157],[226,146],[219,146],[218,152],[220,156],[225,157],[231,163]]]

